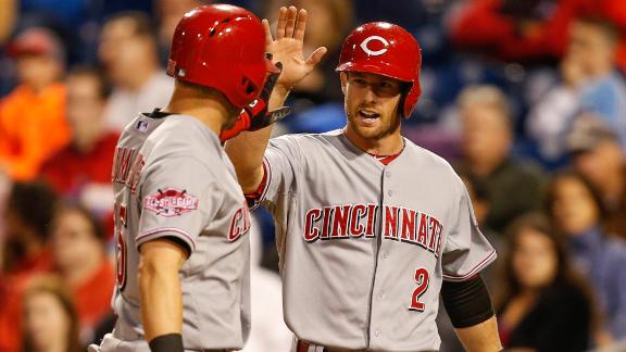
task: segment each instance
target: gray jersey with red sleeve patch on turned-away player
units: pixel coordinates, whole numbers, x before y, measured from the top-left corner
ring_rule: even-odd
[[[117,324],[103,351],[149,351],[139,312],[139,246],[168,237],[185,247],[179,277],[186,350],[240,349],[250,328],[250,216],[217,136],[191,116],[138,116],[113,166]]]

